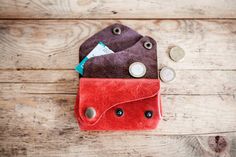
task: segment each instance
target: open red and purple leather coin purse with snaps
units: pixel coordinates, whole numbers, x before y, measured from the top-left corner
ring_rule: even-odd
[[[113,24],[80,46],[80,62],[99,42],[114,53],[84,64],[75,104],[80,129],[155,129],[162,117],[155,40]]]

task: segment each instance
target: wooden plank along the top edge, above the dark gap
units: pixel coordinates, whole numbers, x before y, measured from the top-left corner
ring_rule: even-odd
[[[235,18],[234,0],[8,0],[0,18]]]

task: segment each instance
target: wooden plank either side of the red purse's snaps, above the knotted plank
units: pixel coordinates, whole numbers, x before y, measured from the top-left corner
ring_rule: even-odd
[[[163,95],[164,117],[159,128],[135,134],[199,135],[236,132],[235,100],[235,96],[225,95]],[[64,133],[72,138],[74,132],[78,132],[74,103],[75,95],[1,94],[2,135],[13,136],[33,131],[33,135],[41,132],[56,136],[61,130],[71,128]]]

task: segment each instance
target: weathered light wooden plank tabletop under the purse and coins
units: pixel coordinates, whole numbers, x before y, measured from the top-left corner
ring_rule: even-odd
[[[235,0],[0,0],[0,19],[0,156],[236,156]],[[115,22],[154,37],[176,71],[157,130],[78,129],[79,47]]]

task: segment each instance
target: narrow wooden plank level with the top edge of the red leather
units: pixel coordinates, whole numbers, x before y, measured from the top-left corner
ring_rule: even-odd
[[[76,94],[74,70],[0,70],[2,93]],[[236,94],[236,71],[177,70],[176,79],[162,83],[162,94]]]

